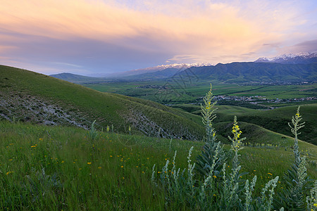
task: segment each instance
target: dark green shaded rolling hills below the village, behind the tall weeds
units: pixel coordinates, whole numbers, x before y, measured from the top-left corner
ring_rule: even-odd
[[[218,110],[216,110],[217,117],[214,120],[215,123],[232,122],[233,117],[236,115],[239,122],[256,124],[273,132],[292,136],[287,122],[290,122],[292,114],[297,110],[297,106],[285,106],[273,110],[254,110],[237,106],[216,107]],[[183,104],[173,106],[173,108],[186,110],[196,115],[201,114],[200,106]],[[299,135],[299,139],[317,145],[317,104],[302,105],[300,113],[303,117],[303,121],[306,123],[305,127],[302,128],[302,134]],[[254,127],[250,126],[249,128]],[[225,137],[227,136],[226,134],[223,135],[225,135]]]

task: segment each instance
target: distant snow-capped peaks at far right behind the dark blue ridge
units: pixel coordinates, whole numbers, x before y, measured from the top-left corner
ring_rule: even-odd
[[[273,58],[261,57],[256,63],[309,64],[317,63],[317,52],[287,53]]]

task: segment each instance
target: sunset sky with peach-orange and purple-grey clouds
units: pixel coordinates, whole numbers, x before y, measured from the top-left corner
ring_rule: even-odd
[[[0,64],[46,75],[314,51],[316,0],[0,0]]]

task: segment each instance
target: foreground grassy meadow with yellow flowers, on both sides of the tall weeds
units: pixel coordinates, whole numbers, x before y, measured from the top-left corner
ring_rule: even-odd
[[[244,134],[246,134],[245,132]],[[151,184],[151,169],[159,172],[166,160],[187,167],[203,143],[99,132],[89,139],[75,127],[0,121],[1,210],[169,210],[160,187]],[[292,140],[280,147],[249,147],[241,151],[243,179],[258,176],[255,192],[267,181],[282,176],[293,158]],[[317,178],[317,146],[300,141],[309,153],[308,174]],[[230,146],[225,146],[230,148]],[[228,165],[231,165],[230,163]],[[230,169],[230,167],[228,167]],[[156,173],[159,177],[160,173]],[[278,192],[285,186],[280,180]]]

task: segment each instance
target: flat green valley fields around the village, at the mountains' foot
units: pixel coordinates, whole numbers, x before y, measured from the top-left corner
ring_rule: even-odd
[[[108,82],[82,83],[83,86],[102,92],[110,92],[156,101],[163,104],[197,103],[206,94],[211,82],[206,81],[152,81],[152,82]],[[213,94],[228,96],[263,96],[267,99],[306,98],[317,96],[317,84],[275,85],[275,86],[241,86],[239,84],[223,84],[212,82]],[[170,89],[136,88],[141,86],[166,86]],[[223,102],[225,103],[225,102]],[[232,102],[232,106],[241,103]],[[288,103],[263,103],[266,106],[287,106]],[[305,103],[316,103],[305,101]],[[243,105],[246,106],[246,105]],[[256,107],[255,107],[256,108]]]

